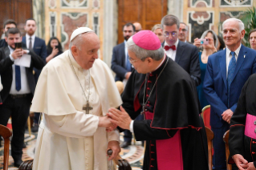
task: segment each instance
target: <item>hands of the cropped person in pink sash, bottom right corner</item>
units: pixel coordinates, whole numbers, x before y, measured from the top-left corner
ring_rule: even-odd
[[[254,162],[248,162],[244,157],[240,154],[235,154],[232,156],[234,163],[237,165],[239,170],[256,170],[254,167]]]

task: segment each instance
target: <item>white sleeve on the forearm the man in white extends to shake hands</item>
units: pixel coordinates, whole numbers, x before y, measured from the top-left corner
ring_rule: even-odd
[[[93,136],[100,121],[99,116],[86,115],[83,111],[77,111],[69,115],[44,114],[44,118],[51,132],[75,138]]]

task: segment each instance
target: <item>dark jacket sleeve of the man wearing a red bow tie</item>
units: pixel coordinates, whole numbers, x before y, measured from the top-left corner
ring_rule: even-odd
[[[196,86],[198,86],[201,83],[201,70],[197,47],[193,48],[193,52],[191,54],[189,75],[193,79]]]

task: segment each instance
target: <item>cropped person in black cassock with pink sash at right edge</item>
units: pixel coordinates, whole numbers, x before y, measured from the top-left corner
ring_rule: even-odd
[[[230,159],[232,169],[256,169],[256,74],[242,87],[238,107],[230,120]],[[236,166],[238,165],[238,166]]]

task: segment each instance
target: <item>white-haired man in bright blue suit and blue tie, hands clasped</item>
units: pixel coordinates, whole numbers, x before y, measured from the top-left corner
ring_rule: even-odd
[[[242,87],[256,72],[256,51],[241,43],[244,24],[229,18],[222,24],[226,50],[209,56],[205,72],[205,97],[211,105],[210,125],[213,138],[213,166],[226,170],[224,133],[230,129],[230,119],[237,107]]]

